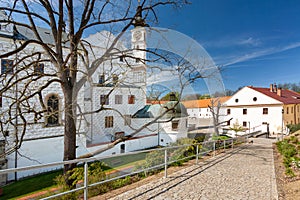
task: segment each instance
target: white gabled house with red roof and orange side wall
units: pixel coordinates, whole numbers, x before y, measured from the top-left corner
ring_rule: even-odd
[[[224,102],[224,120],[232,118],[224,128],[239,124],[246,132],[286,132],[287,124],[299,123],[299,104],[299,93],[276,85],[271,84],[270,88],[246,86]]]

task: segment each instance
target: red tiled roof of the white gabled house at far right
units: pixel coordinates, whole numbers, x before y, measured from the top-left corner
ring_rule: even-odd
[[[281,96],[280,96],[277,94],[277,92],[271,92],[270,88],[258,88],[252,86],[248,86],[248,87],[257,92],[263,93],[273,99],[276,99],[282,102],[283,104],[300,104],[300,94],[292,90],[281,89]]]

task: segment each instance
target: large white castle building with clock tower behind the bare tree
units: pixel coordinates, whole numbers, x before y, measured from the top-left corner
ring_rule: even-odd
[[[0,11],[0,19],[6,18],[5,12]],[[15,45],[20,45],[22,42],[34,37],[30,29],[12,24],[0,25],[0,55],[13,50]],[[38,32],[45,43],[51,44],[54,42],[51,39],[52,37],[49,36],[50,33],[47,29],[38,27]],[[79,117],[77,120],[77,156],[104,147],[119,137],[131,135],[135,130],[141,128],[144,123],[153,119],[154,115],[150,118],[141,115],[132,117],[135,113],[141,112],[141,109],[146,106],[147,66],[142,62],[142,60],[146,59],[146,51],[136,50],[146,49],[146,36],[147,32],[143,26],[135,26],[131,31],[133,50],[126,49],[121,42],[118,42],[116,47],[120,53],[116,53],[114,58],[102,63],[79,91],[77,103],[80,111],[78,110],[77,112],[93,114],[84,115],[84,117]],[[102,56],[114,38],[115,36],[107,31],[85,38],[91,44],[87,47],[90,52],[89,59],[94,60]],[[32,53],[35,50],[41,51],[38,48],[37,45],[32,44],[23,53]],[[122,54],[124,51],[126,56]],[[44,55],[41,56],[43,59],[47,59]],[[15,62],[18,62],[16,55],[7,59],[1,59],[2,88],[4,88],[5,84],[9,84],[10,77],[17,73],[11,67]],[[63,159],[64,146],[63,92],[59,83],[51,82],[52,78],[45,76],[37,80],[34,79],[35,74],[51,74],[55,72],[55,67],[50,62],[45,62],[45,64],[40,63],[37,66],[26,66],[24,69],[14,70],[20,70],[18,75],[21,77],[32,76],[34,81],[30,82],[29,85],[21,81],[15,84],[14,89],[11,90],[2,91],[1,88],[0,118],[3,131],[0,135],[0,168],[15,168],[61,161]],[[84,69],[82,70],[84,71]],[[78,74],[78,79],[84,76],[84,73]],[[19,117],[13,118],[13,125],[4,123],[8,114],[14,116],[18,112],[14,100],[17,99],[16,95],[22,95],[20,91],[26,88],[26,91],[30,92],[46,84],[49,85],[47,89],[42,91],[42,96],[44,97],[42,101],[48,108],[57,111],[54,116],[45,114],[43,117],[37,117],[30,112],[24,114],[27,123],[29,122],[24,132],[22,127],[19,126],[24,122]],[[40,99],[37,97],[35,100],[28,102],[28,104],[41,107],[39,101]],[[174,119],[172,118],[169,123],[163,123],[162,121],[153,123],[150,128],[145,129],[147,131],[139,131],[130,140],[117,144],[103,154],[117,154],[157,145],[167,145],[176,141],[176,138],[179,137],[177,135],[179,131],[181,132],[180,137],[186,136],[187,123],[184,122],[187,120],[187,115],[184,109],[184,107],[179,109],[179,113],[182,110],[183,114],[177,115]],[[156,109],[156,113],[157,110],[159,109]],[[177,124],[176,127],[174,124]],[[23,140],[22,145],[18,147],[18,151],[4,154],[5,149],[12,147],[16,139]],[[7,180],[18,179],[38,172],[32,170],[30,172],[9,174],[2,177],[1,181],[5,183]]]

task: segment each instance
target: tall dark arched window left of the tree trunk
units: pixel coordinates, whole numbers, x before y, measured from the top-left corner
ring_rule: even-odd
[[[59,100],[58,96],[53,94],[47,99],[46,126],[56,126],[59,124]]]

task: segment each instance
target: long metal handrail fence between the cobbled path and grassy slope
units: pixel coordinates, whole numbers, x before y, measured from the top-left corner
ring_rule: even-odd
[[[84,178],[83,178],[83,184],[78,185],[75,189],[60,192],[57,194],[54,194],[52,196],[46,197],[44,199],[52,199],[55,197],[60,197],[63,195],[67,195],[70,193],[74,193],[77,191],[83,191],[83,198],[88,199],[88,190],[89,188],[92,188],[97,185],[101,185],[104,183],[108,183],[117,179],[125,178],[127,176],[133,176],[135,174],[139,173],[147,173],[152,170],[158,170],[163,169],[164,170],[164,177],[167,178],[168,176],[168,166],[174,163],[182,162],[189,159],[195,158],[195,164],[197,165],[199,162],[199,158],[201,156],[205,156],[206,154],[212,154],[215,156],[216,150],[218,149],[227,149],[227,148],[233,148],[236,143],[244,143],[247,141],[247,137],[237,137],[232,138],[228,140],[215,140],[215,141],[207,141],[197,144],[188,144],[188,145],[180,145],[180,146],[170,146],[170,147],[164,147],[164,148],[157,148],[157,149],[151,149],[151,150],[144,150],[144,151],[137,151],[137,152],[129,152],[129,153],[123,153],[118,155],[110,155],[110,156],[102,156],[102,157],[93,157],[88,159],[76,159],[72,161],[64,161],[64,162],[55,162],[55,163],[48,163],[48,164],[42,164],[42,165],[35,165],[35,166],[28,166],[28,167],[20,167],[20,168],[12,168],[12,169],[5,169],[0,171],[1,174],[9,174],[9,173],[15,173],[20,171],[26,171],[26,170],[32,170],[32,169],[39,169],[39,168],[47,168],[47,167],[57,167],[60,166],[61,168],[63,165],[66,164],[81,164],[84,167]],[[138,156],[139,155],[139,156]],[[143,156],[140,156],[143,155]],[[152,160],[151,156],[152,155]],[[134,158],[134,156],[137,158],[137,160],[130,160],[128,158]],[[144,157],[141,158],[141,157]],[[146,162],[147,159],[149,159],[151,162]],[[88,164],[95,161],[101,161],[101,162],[110,162],[111,165],[116,165],[119,160],[127,160],[131,163],[134,163],[135,167],[132,167],[128,171],[128,167],[126,168],[127,171],[124,171],[121,174],[118,174],[116,176],[107,176],[105,180],[101,180],[95,183],[89,183],[89,176],[88,176]],[[137,163],[142,163],[146,165],[137,165]],[[122,164],[122,163],[121,163]],[[127,163],[128,165],[128,163]]]

